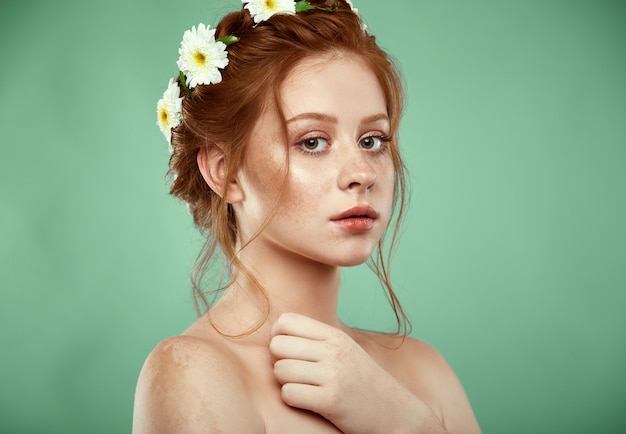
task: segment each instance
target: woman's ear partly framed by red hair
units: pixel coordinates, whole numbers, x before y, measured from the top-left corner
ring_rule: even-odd
[[[197,159],[200,173],[211,190],[226,199],[228,203],[237,203],[243,200],[243,191],[241,191],[237,179],[226,179],[224,151],[220,145],[214,144],[200,148]]]

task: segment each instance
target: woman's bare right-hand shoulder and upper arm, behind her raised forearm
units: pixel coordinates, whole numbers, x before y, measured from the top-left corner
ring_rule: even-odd
[[[481,432],[461,382],[439,351],[412,337],[373,339],[383,366],[431,407],[449,433]]]

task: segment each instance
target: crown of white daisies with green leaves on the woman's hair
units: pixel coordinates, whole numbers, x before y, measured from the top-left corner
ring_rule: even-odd
[[[307,0],[241,0],[244,8],[248,9],[255,25],[270,19],[276,14],[294,15],[313,9],[333,12],[334,8],[322,8],[312,6]],[[352,11],[358,14],[350,0],[345,0]],[[365,24],[361,23],[365,31]],[[178,81],[170,78],[163,97],[157,103],[157,125],[167,139],[170,152],[172,152],[172,129],[176,128],[183,119],[183,97],[180,88],[189,96],[194,87],[199,84],[216,84],[222,81],[220,69],[228,65],[228,53],[226,47],[239,41],[234,35],[215,39],[215,29],[204,24],[193,26],[185,31],[183,41],[176,62],[179,68]]]

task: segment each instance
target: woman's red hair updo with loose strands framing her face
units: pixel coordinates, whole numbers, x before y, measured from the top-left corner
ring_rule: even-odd
[[[359,58],[377,77],[387,103],[391,122],[391,155],[395,168],[394,207],[396,223],[392,237],[395,242],[405,206],[405,167],[400,157],[397,136],[403,108],[400,75],[387,53],[368,34],[359,15],[343,0],[309,0],[316,7],[332,8],[332,12],[313,9],[295,15],[276,14],[259,24],[254,23],[247,9],[226,15],[216,27],[215,37],[235,35],[239,41],[229,45],[228,65],[221,71],[218,84],[198,85],[191,95],[181,87],[183,120],[172,130],[173,148],[168,174],[174,178],[170,193],[188,204],[195,225],[206,237],[192,276],[194,299],[200,313],[210,306],[200,288],[209,264],[221,250],[228,263],[241,267],[235,245],[237,222],[230,205],[222,199],[223,192],[212,191],[198,168],[198,151],[223,144],[225,179],[232,178],[240,167],[250,134],[263,109],[270,103],[280,106],[277,89],[289,71],[310,56],[347,54]],[[272,99],[273,98],[273,99]],[[393,292],[383,256],[383,241],[368,261],[387,290],[394,310],[398,333],[408,332],[408,319]],[[254,276],[244,273],[264,291]],[[211,291],[214,293],[214,291]]]

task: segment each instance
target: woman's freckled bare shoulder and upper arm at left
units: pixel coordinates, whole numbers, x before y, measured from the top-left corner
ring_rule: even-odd
[[[253,432],[257,422],[237,361],[218,341],[176,336],[146,359],[135,392],[133,433],[211,433],[226,427]]]

